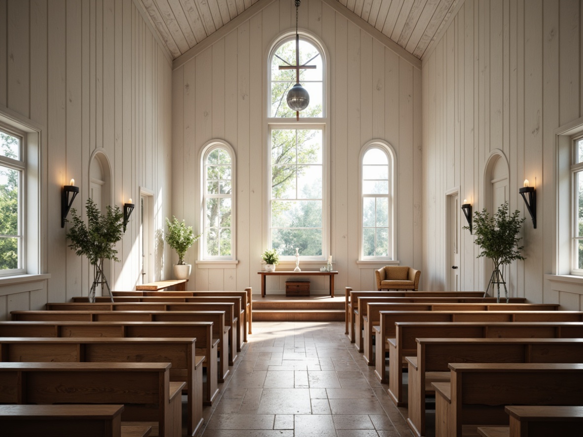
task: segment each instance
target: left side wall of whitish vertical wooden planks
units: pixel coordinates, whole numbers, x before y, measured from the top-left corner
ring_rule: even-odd
[[[85,209],[97,148],[111,163],[115,205],[128,198],[138,204],[139,186],[150,189],[155,228],[163,230],[170,214],[171,63],[132,0],[0,0],[0,29],[0,104],[45,129],[41,226],[52,275],[0,287],[6,319],[12,309],[87,294],[93,272],[66,246],[60,191],[75,178],[80,195],[73,206]],[[140,279],[138,234],[136,207],[118,244],[121,262],[108,278],[114,289],[131,289]]]

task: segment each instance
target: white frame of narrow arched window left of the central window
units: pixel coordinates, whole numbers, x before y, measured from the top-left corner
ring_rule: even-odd
[[[210,256],[206,251],[206,199],[209,197],[206,195],[206,168],[205,163],[209,154],[216,149],[222,149],[226,151],[231,158],[231,194],[230,195],[212,195],[210,197],[220,197],[220,198],[230,198],[231,199],[231,255],[229,256]],[[202,241],[198,245],[199,260],[200,262],[225,262],[234,261],[237,259],[237,248],[236,248],[236,223],[237,223],[237,204],[236,204],[236,193],[237,193],[237,161],[235,150],[233,147],[223,141],[223,140],[211,140],[203,146],[201,151],[201,239]]]

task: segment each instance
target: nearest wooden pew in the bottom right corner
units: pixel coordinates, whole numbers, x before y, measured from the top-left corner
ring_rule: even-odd
[[[483,437],[549,437],[580,435],[583,407],[551,405],[514,405],[504,408],[510,427],[478,428]],[[496,434],[494,434],[496,433]]]

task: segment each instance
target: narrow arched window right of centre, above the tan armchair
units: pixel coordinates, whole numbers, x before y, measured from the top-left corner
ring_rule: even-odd
[[[395,259],[394,151],[388,143],[367,143],[360,154],[361,259]]]

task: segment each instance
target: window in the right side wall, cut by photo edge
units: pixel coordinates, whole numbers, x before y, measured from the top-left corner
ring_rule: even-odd
[[[573,273],[583,274],[583,136],[573,138],[571,161],[573,217]]]

